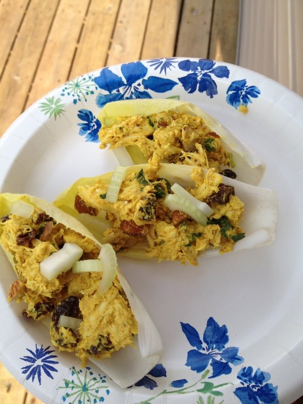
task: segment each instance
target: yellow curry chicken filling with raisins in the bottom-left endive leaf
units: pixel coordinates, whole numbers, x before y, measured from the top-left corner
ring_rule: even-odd
[[[51,280],[40,272],[41,262],[65,243],[76,243],[83,249],[81,260],[96,259],[99,248],[92,240],[56,223],[36,207],[28,219],[15,214],[2,216],[0,234],[1,244],[14,257],[18,276],[10,287],[9,299],[25,302],[25,317],[51,317],[51,339],[59,350],[74,351],[85,364],[91,356],[110,357],[133,343],[137,322],[117,276],[100,294],[97,289],[102,272],[75,274],[69,270]],[[59,325],[62,315],[78,319],[77,329]]]

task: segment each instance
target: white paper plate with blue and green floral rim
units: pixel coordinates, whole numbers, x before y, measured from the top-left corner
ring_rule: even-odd
[[[169,58],[80,76],[38,100],[0,141],[1,191],[53,200],[79,177],[110,171],[97,143],[103,103],[180,97],[203,108],[267,164],[278,195],[275,243],[205,258],[199,267],[119,259],[163,338],[160,365],[117,387],[93,364],[49,347],[46,328],[8,304],[15,279],[0,254],[0,360],[45,403],[291,403],[303,394],[303,101],[230,64]],[[248,107],[242,114],[240,105]],[[10,106],[14,108],[14,106]]]

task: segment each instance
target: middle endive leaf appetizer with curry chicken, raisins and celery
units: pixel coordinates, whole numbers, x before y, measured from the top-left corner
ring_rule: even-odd
[[[278,211],[273,190],[155,156],[81,178],[54,204],[118,254],[191,265],[199,256],[273,242]]]

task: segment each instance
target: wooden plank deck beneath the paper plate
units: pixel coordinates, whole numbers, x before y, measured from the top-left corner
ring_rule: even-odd
[[[0,136],[45,93],[104,66],[235,63],[238,10],[239,0],[0,0]],[[0,403],[41,401],[0,363]]]

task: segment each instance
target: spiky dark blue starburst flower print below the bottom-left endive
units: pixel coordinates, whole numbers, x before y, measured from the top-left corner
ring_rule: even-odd
[[[41,348],[38,348],[37,344],[35,351],[26,348],[31,356],[20,358],[22,361],[29,363],[29,365],[21,368],[23,374],[27,373],[26,380],[31,378],[32,382],[34,382],[37,376],[38,382],[41,384],[41,371],[43,371],[47,377],[54,379],[51,372],[58,372],[58,370],[53,365],[57,365],[59,362],[54,361],[54,358],[57,358],[57,355],[50,355],[55,351],[48,350],[48,348],[49,346],[43,348],[43,345],[41,345]]]

